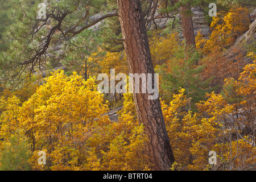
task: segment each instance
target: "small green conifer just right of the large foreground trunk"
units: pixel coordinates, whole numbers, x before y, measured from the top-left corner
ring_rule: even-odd
[[[204,94],[211,90],[210,79],[201,80],[200,74],[204,65],[195,65],[199,59],[199,52],[179,46],[174,57],[170,57],[166,64],[157,69],[162,78],[160,88],[164,99],[170,101],[172,94],[177,94],[180,88],[185,88],[187,97],[192,98],[192,107],[196,102],[204,100]]]

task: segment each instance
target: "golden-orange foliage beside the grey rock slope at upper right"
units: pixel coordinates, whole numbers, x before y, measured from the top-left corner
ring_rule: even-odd
[[[197,34],[195,38],[197,49],[203,44],[204,53],[216,53],[228,48],[239,36],[249,30],[250,18],[248,14],[249,10],[244,7],[232,9],[226,14],[217,13],[217,16],[213,16],[213,21],[210,24],[213,31],[209,40],[200,33]]]

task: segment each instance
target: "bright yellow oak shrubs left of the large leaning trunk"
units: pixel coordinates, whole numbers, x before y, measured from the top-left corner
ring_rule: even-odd
[[[8,140],[17,129],[23,131],[33,170],[148,168],[143,126],[125,111],[118,122],[110,121],[108,102],[93,78],[56,71],[23,104],[15,96],[1,99],[1,137]],[[38,164],[39,151],[46,152],[46,165]]]

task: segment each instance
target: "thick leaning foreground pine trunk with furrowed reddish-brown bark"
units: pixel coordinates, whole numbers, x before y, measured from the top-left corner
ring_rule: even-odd
[[[117,1],[130,73],[139,75],[152,73],[154,75],[140,0]],[[154,165],[154,170],[169,170],[174,162],[174,155],[167,135],[160,100],[159,98],[148,100],[149,95],[149,93],[141,92],[133,94],[138,121],[143,123],[144,133],[149,139],[146,152],[150,157],[150,162]]]

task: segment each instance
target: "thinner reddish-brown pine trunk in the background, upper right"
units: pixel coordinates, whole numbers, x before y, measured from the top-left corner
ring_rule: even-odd
[[[189,11],[191,11],[191,5],[187,3],[187,5],[181,6],[180,11],[181,11],[181,24],[182,24],[183,36],[184,36],[184,39],[186,40],[186,44],[188,46],[192,46],[196,48],[193,20],[192,20],[192,16],[189,15]]]

